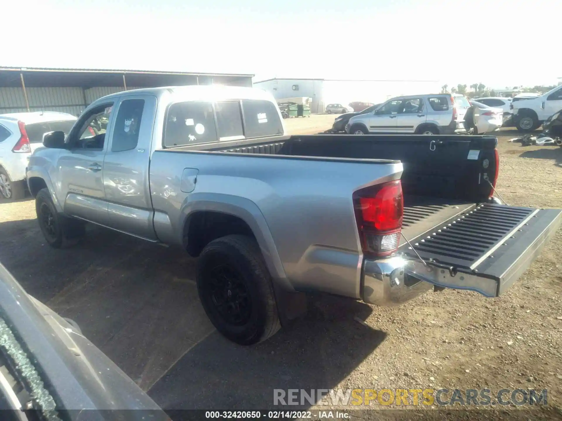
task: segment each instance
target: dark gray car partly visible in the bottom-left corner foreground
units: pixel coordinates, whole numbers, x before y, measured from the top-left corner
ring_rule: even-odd
[[[78,329],[26,294],[2,264],[0,350],[45,419],[169,420]]]

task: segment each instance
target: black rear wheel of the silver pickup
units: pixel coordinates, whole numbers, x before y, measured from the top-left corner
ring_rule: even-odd
[[[217,331],[239,345],[264,341],[281,327],[271,276],[251,237],[207,244],[197,260],[197,291]]]

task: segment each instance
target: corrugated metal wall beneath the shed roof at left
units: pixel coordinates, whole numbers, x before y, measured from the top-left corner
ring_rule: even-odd
[[[138,88],[128,88],[138,89]],[[123,88],[102,86],[82,88],[27,88],[30,111],[58,111],[79,115],[94,100],[122,91]],[[26,112],[21,88],[0,88],[0,114]]]

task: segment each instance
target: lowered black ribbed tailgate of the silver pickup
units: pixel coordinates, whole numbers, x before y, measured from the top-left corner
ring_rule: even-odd
[[[414,260],[406,273],[437,286],[494,297],[505,292],[555,234],[560,209],[481,204],[400,249]],[[416,261],[417,260],[417,261]]]

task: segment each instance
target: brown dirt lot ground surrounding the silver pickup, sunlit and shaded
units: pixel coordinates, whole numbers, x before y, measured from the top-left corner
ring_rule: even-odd
[[[285,125],[295,134],[315,133],[333,118]],[[507,143],[517,135],[510,130],[498,135],[497,190],[506,202],[562,208],[562,148]],[[560,418],[561,256],[559,230],[497,299],[445,290],[377,308],[314,297],[300,324],[240,347],[207,321],[193,283],[194,260],[182,250],[96,227],[74,248],[53,250],[39,232],[33,200],[0,203],[0,262],[31,295],[78,322],[166,409],[269,408],[274,388],[522,387],[547,388],[555,407],[524,419]],[[514,411],[498,408],[478,418],[511,419]]]

